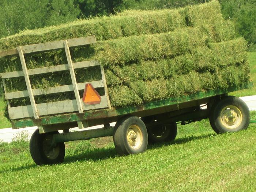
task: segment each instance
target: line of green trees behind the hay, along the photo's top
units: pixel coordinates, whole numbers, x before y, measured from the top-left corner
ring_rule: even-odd
[[[91,16],[116,14],[126,9],[154,10],[206,3],[210,0],[0,0],[0,38],[20,30],[59,25]],[[256,44],[255,0],[219,0],[225,19],[238,35]]]

